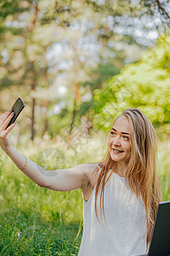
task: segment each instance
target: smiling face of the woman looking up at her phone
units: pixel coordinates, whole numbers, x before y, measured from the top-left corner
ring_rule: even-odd
[[[109,148],[111,159],[127,164],[130,158],[130,124],[126,116],[116,119],[111,128]]]

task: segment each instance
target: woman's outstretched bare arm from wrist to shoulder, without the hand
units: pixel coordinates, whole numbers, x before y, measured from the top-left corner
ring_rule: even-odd
[[[88,164],[74,166],[70,169],[46,171],[42,166],[37,165],[37,163],[32,160],[28,158],[25,159],[24,155],[20,154],[13,146],[8,148],[5,152],[19,169],[25,166],[27,160],[26,168],[24,168],[22,172],[41,187],[58,191],[82,189],[86,172],[88,172]]]

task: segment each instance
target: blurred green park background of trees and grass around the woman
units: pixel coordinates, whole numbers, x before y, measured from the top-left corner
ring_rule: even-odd
[[[1,0],[0,59],[0,113],[26,103],[10,133],[22,154],[48,170],[97,162],[116,116],[139,108],[169,200],[168,0]],[[2,150],[0,184],[0,255],[77,255],[80,189],[39,188]]]

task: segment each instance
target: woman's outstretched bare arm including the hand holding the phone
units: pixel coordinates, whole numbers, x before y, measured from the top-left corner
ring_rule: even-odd
[[[24,172],[27,177],[30,177],[32,181],[41,187],[58,191],[82,189],[82,187],[86,185],[89,179],[89,173],[96,167],[95,164],[82,164],[71,167],[70,169],[46,171],[42,166],[38,166],[37,163],[32,160],[26,159],[23,154],[20,154],[20,152],[11,145],[8,133],[14,128],[14,124],[10,125],[8,129],[5,130],[11,118],[12,116],[10,116],[10,112],[8,111],[3,113],[0,117],[0,145],[4,152],[14,161],[14,164],[19,169],[22,169],[22,172]],[[23,166],[26,167],[23,169]]]

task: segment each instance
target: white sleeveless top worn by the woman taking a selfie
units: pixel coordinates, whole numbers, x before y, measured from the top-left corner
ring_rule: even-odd
[[[145,209],[136,195],[127,188],[125,178],[112,172],[105,184],[105,219],[103,211],[100,218],[100,191],[97,212],[102,225],[94,209],[95,187],[88,201],[84,201],[82,195],[83,232],[78,256],[132,256],[145,253]]]

